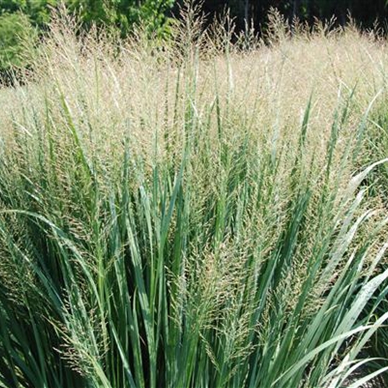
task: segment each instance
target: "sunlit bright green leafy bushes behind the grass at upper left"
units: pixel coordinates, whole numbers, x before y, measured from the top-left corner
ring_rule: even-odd
[[[76,15],[78,32],[92,26],[119,32],[125,37],[135,25],[143,25],[150,35],[166,37],[171,19],[166,14],[174,0],[6,0],[0,4],[0,78],[10,77],[11,70],[29,66],[27,57],[42,38],[52,13]],[[63,8],[64,6],[64,8]]]

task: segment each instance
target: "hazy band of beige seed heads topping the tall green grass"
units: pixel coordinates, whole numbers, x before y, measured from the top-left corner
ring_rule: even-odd
[[[274,138],[284,144],[297,141],[312,95],[308,144],[312,152],[319,151],[326,147],[334,111],[354,88],[356,126],[359,115],[385,86],[385,44],[354,28],[278,34],[270,45],[257,44],[248,52],[230,47],[226,54],[211,58],[199,48],[198,56],[186,63],[181,50],[174,52],[174,47],[139,47],[136,44],[143,42],[139,38],[121,43],[121,51],[115,53],[103,38],[78,39],[73,29],[73,25],[53,28],[36,64],[36,83],[24,87],[24,92],[1,93],[6,100],[2,122],[10,125],[9,112],[18,110],[20,95],[22,104],[24,99],[24,104],[34,104],[37,113],[43,114],[41,96],[50,101],[60,93],[81,133],[87,133],[89,126],[97,128],[95,145],[106,148],[107,155],[128,133],[146,149],[153,147],[156,135],[159,141],[165,132],[181,135],[187,100],[192,99],[201,123],[217,95],[231,135],[243,124],[262,144],[271,144]],[[216,123],[212,126],[215,131]],[[346,129],[356,131],[352,126]],[[310,157],[307,152],[305,157]]]

